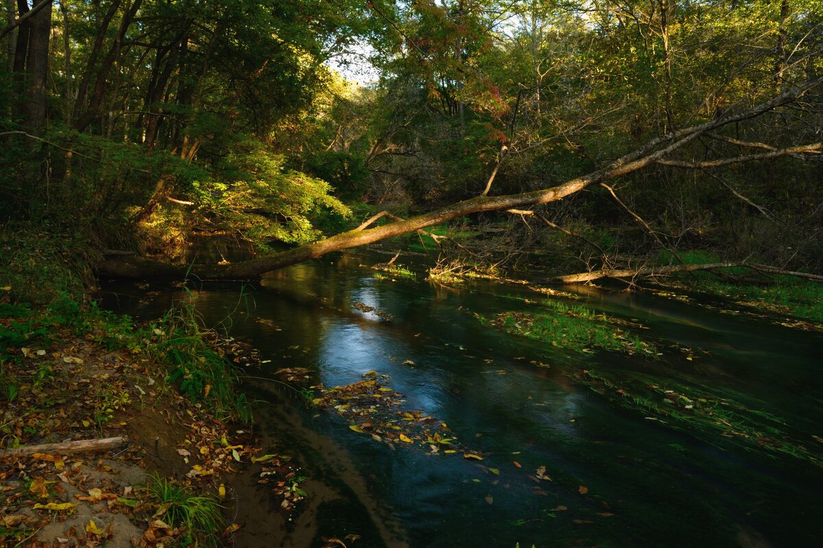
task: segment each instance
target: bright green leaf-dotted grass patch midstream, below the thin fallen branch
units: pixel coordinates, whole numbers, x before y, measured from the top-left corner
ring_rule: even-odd
[[[546,310],[547,309],[547,310]],[[625,352],[656,357],[657,348],[627,329],[616,325],[615,318],[586,308],[548,300],[544,311],[535,313],[503,312],[493,318],[481,316],[486,325],[494,325],[510,334],[532,338],[557,348],[575,352]]]

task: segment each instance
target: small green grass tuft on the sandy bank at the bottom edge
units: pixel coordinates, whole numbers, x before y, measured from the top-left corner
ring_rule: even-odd
[[[154,476],[147,486],[149,495],[159,505],[160,519],[171,527],[186,527],[181,546],[217,546],[217,535],[221,531],[223,518],[221,506],[208,495],[195,495],[185,486]]]

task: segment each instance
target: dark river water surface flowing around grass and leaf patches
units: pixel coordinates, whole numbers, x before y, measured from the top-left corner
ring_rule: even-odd
[[[644,336],[664,354],[661,361],[581,355],[483,327],[472,315],[519,310],[525,305],[506,296],[523,290],[378,279],[369,266],[389,257],[352,251],[242,289],[202,284],[198,311],[212,325],[234,311],[230,334],[272,360],[255,375],[309,367],[326,386],[370,370],[391,375],[407,408],[445,421],[485,460],[390,449],[280,385],[249,381],[258,435],[300,463],[309,497],[288,523],[265,486],[244,476],[247,483],[235,485],[236,521],[244,524],[236,546],[321,546],[321,536],[352,533],[361,536],[346,541],[355,547],[817,546],[820,467],[673,430],[570,374],[640,371],[733,391],[782,417],[819,455],[823,444],[811,436],[823,435],[821,334],[648,294],[579,290],[586,306],[649,327]],[[179,296],[151,289],[110,283],[105,303],[150,317]],[[361,312],[357,302],[393,319]],[[672,343],[709,354],[687,361]],[[530,479],[538,467],[552,481]]]

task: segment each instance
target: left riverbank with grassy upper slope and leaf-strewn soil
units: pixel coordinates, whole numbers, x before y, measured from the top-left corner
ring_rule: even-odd
[[[63,243],[0,242],[0,546],[228,545],[226,485],[258,468],[294,509],[294,467],[255,444],[234,386],[258,355],[202,329],[193,302],[147,325],[101,311]]]

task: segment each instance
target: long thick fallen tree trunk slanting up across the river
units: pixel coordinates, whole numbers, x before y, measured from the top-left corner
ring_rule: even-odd
[[[811,90],[821,83],[823,83],[823,78],[807,82],[807,84],[795,90],[780,94],[774,99],[745,112],[728,114],[725,117],[719,117],[710,122],[704,122],[697,126],[686,127],[663,136],[658,136],[639,149],[609,163],[605,168],[593,173],[588,173],[588,175],[584,175],[583,177],[570,179],[570,181],[564,182],[556,187],[509,196],[486,196],[486,192],[484,191],[481,196],[463,200],[440,210],[418,215],[412,219],[396,219],[396,222],[391,224],[376,228],[366,228],[371,222],[374,222],[374,220],[379,219],[381,216],[375,215],[367,223],[363,223],[360,227],[349,232],[337,234],[336,236],[328,237],[319,242],[306,244],[305,246],[295,247],[295,249],[289,251],[282,251],[257,259],[245,260],[233,265],[169,265],[141,257],[107,256],[99,266],[98,272],[103,275],[134,279],[182,280],[189,274],[203,280],[258,279],[266,272],[295,265],[305,260],[316,259],[332,251],[342,251],[350,247],[363,246],[379,242],[389,237],[412,233],[435,224],[445,223],[452,219],[463,217],[467,214],[477,214],[486,211],[516,210],[532,205],[548,204],[562,200],[565,196],[570,196],[582,191],[584,188],[590,187],[593,184],[608,181],[615,177],[646,168],[649,165],[660,163],[667,159],[667,154],[694,141],[709,131],[714,131],[728,124],[742,122],[770,112],[774,108],[796,100],[802,94],[805,94],[808,90]],[[816,153],[819,152],[819,148],[817,145],[809,145],[808,150],[804,151]],[[763,157],[765,158],[765,154],[768,154],[768,158],[797,154],[797,150],[798,147],[770,150],[768,153],[764,153]],[[756,155],[753,155],[747,156],[746,160],[758,158]]]

